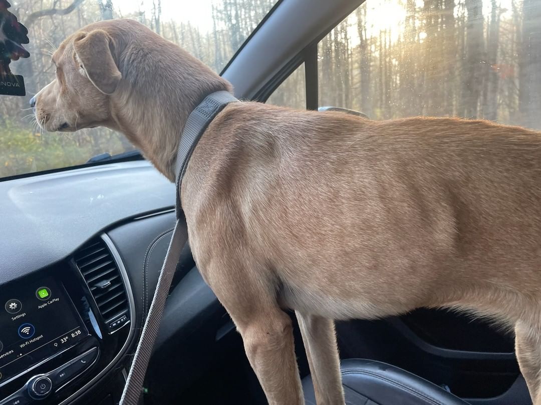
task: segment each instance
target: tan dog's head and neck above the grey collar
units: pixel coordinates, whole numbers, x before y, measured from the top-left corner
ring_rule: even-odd
[[[131,19],[85,26],[52,56],[56,78],[32,98],[47,131],[122,132],[169,179],[179,129],[203,96],[232,91],[188,52]]]

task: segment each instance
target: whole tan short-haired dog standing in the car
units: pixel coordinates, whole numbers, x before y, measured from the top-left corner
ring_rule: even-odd
[[[118,130],[170,180],[188,114],[230,85],[134,21],[89,25],[36,96],[49,131]],[[344,403],[334,319],[418,307],[516,331],[541,404],[541,135],[450,118],[374,122],[233,103],[182,184],[190,246],[271,404],[304,402],[294,309],[318,404]]]

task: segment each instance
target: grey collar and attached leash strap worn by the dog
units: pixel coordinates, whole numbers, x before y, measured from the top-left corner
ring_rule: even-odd
[[[175,167],[176,224],[119,405],[137,405],[139,401],[144,375],[147,372],[150,355],[152,354],[154,342],[160,328],[163,308],[169,295],[171,281],[173,281],[182,249],[188,241],[188,227],[180,203],[182,178],[184,177],[184,173],[186,173],[188,161],[197,145],[197,141],[199,141],[203,132],[207,129],[208,124],[222,111],[223,107],[237,101],[228,91],[217,91],[210,94],[190,113],[186,125],[184,125],[184,129],[182,130]]]

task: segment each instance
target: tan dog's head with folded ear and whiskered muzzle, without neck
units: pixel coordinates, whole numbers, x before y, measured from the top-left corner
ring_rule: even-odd
[[[108,126],[110,96],[122,78],[115,41],[103,29],[88,26],[64,40],[52,56],[56,78],[30,100],[47,131],[76,131]]]

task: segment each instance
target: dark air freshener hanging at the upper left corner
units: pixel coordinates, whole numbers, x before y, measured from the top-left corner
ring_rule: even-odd
[[[14,75],[9,69],[11,60],[28,58],[30,53],[22,44],[28,44],[27,28],[17,21],[17,17],[8,9],[6,0],[0,0],[0,94],[8,96],[25,96],[24,79]]]

